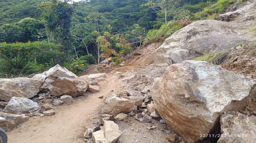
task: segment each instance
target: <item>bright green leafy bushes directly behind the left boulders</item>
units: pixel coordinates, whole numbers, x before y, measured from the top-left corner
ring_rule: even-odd
[[[0,74],[28,75],[43,72],[60,62],[60,45],[43,42],[1,43]]]

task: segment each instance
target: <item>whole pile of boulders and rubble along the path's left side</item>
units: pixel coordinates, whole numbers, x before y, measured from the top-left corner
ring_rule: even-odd
[[[53,106],[71,105],[73,98],[85,94],[90,84],[97,84],[106,74],[77,77],[68,69],[56,65],[42,74],[29,78],[0,79],[1,127],[11,130],[28,120],[28,116],[54,115]],[[90,85],[90,92],[99,91]],[[7,102],[4,102],[7,101]],[[9,113],[9,114],[8,114]],[[24,116],[28,115],[28,116]]]

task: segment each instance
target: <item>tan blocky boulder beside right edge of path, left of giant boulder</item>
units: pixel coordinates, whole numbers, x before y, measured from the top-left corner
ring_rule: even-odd
[[[129,113],[134,110],[134,102],[122,97],[113,96],[105,100],[102,108],[103,114],[111,114],[113,116],[119,113]]]

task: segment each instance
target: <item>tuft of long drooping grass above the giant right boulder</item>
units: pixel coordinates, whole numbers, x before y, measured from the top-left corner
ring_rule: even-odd
[[[205,53],[200,57],[194,58],[195,61],[205,61],[215,65],[221,64],[222,61],[225,60],[227,56],[227,51],[220,51],[220,52],[212,52],[212,53]]]

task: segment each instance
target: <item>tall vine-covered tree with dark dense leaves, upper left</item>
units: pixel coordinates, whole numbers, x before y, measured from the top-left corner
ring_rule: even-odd
[[[45,27],[53,36],[55,44],[63,45],[61,51],[68,53],[71,46],[70,27],[71,16],[75,12],[75,4],[70,4],[72,0],[52,0],[50,2],[43,2],[39,7],[44,10],[41,17],[45,20]]]

